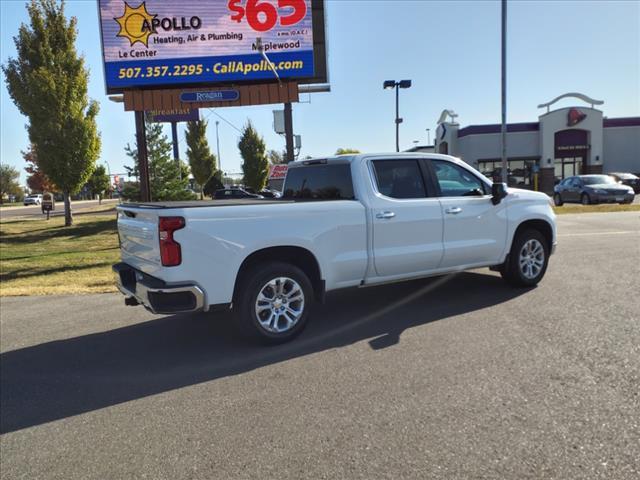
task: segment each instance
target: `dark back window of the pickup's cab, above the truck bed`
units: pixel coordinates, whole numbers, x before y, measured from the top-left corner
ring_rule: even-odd
[[[351,165],[340,163],[289,168],[282,198],[353,200]]]

